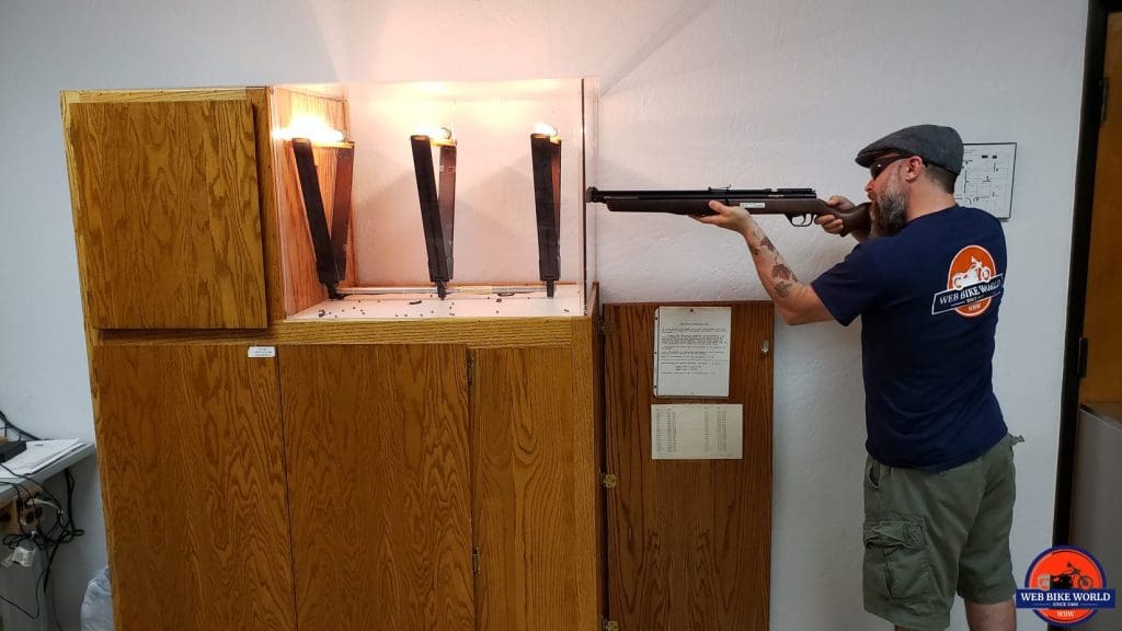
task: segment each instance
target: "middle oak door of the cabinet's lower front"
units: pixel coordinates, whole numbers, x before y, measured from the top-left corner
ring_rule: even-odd
[[[279,358],[301,631],[473,630],[467,350]]]

